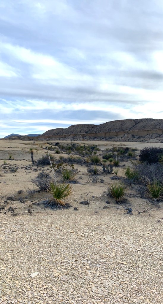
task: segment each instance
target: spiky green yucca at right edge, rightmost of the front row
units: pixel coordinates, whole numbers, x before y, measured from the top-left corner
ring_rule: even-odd
[[[147,182],[147,195],[153,199],[153,201],[159,201],[163,199],[163,180],[154,178]]]

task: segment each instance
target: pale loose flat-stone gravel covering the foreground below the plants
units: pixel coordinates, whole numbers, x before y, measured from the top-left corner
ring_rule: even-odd
[[[68,210],[0,217],[0,304],[161,304],[162,220]]]

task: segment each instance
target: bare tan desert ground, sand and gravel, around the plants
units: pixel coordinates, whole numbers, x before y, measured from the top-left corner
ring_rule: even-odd
[[[98,145],[100,152],[117,144],[138,150],[149,146],[85,144]],[[44,209],[42,201],[49,194],[33,192],[32,179],[40,170],[52,174],[52,169],[33,166],[29,148],[36,148],[36,161],[46,153],[46,145],[0,140],[0,206],[5,206],[0,210],[0,304],[162,304],[162,203],[153,206],[131,187],[129,215],[106,195],[113,182],[110,174],[100,174],[104,182],[93,183],[86,167],[75,165],[78,183],[72,184],[74,194],[67,199],[71,208]],[[8,160],[9,154],[14,160]],[[120,164],[120,175],[127,165]],[[13,167],[18,167],[16,172],[10,171]],[[151,207],[148,213],[136,211]]]

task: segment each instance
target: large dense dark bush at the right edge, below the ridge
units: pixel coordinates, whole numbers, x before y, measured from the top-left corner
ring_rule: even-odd
[[[163,155],[163,148],[159,147],[145,147],[140,150],[140,161],[146,161],[148,164],[158,163],[161,155]]]

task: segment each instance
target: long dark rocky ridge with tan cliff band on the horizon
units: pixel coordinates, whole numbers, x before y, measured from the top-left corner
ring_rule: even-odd
[[[18,136],[22,140],[33,140]],[[59,139],[163,142],[163,119],[123,119],[100,125],[81,124],[48,130],[34,140]]]

